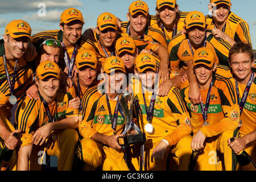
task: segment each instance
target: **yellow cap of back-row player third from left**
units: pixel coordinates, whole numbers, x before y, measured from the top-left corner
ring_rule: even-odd
[[[114,30],[117,30],[117,18],[112,13],[102,13],[98,16],[97,27],[100,31],[106,28],[114,28]]]

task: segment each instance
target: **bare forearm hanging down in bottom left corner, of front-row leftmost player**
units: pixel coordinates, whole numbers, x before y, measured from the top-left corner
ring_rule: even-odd
[[[19,148],[18,164],[17,164],[18,171],[28,171],[29,170],[29,162],[30,162],[32,148],[33,148],[32,144],[30,144],[28,146],[22,146]]]

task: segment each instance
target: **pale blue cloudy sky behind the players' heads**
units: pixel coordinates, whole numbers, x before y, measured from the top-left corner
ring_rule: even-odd
[[[0,32],[5,32],[5,26],[11,20],[26,20],[31,28],[32,34],[40,31],[59,29],[60,14],[69,7],[79,9],[85,18],[86,28],[95,27],[97,17],[106,11],[126,21],[126,13],[129,5],[134,0],[0,0]],[[155,14],[156,0],[144,0],[149,7],[150,14]],[[201,11],[207,15],[209,0],[177,0],[181,11]],[[233,13],[246,20],[250,27],[251,42],[256,49],[256,18],[254,0],[232,0]],[[45,6],[44,6],[45,5]],[[46,8],[44,11],[44,7]],[[46,16],[42,16],[44,15]],[[2,34],[0,38],[2,39]]]

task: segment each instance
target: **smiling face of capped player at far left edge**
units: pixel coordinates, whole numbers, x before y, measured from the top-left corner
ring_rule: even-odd
[[[27,36],[12,38],[10,35],[3,35],[5,41],[5,55],[8,60],[19,59],[26,52],[30,39]]]

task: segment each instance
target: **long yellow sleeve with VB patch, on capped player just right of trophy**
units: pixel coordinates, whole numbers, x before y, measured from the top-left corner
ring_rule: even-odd
[[[177,127],[170,135],[164,137],[164,139],[166,139],[170,145],[174,145],[179,142],[181,138],[191,134],[191,119],[181,98],[179,89],[173,88],[170,91],[167,104],[174,115]]]

